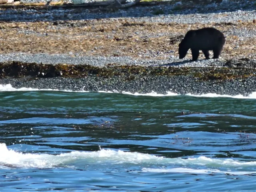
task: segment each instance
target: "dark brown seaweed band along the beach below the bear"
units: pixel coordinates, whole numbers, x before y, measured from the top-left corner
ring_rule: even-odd
[[[226,67],[173,67],[173,66],[138,66],[138,65],[115,65],[98,67],[89,64],[37,64],[25,62],[0,62],[0,78],[84,78],[87,76],[100,76],[103,78],[125,77],[127,81],[132,81],[138,77],[146,76],[189,76],[201,81],[224,81],[244,79],[250,76],[256,76],[254,69],[255,62],[250,61],[250,68],[239,68],[248,63],[247,60],[238,60],[234,62],[229,60],[226,62]],[[235,66],[235,67],[234,67]],[[243,66],[244,67],[244,66]]]

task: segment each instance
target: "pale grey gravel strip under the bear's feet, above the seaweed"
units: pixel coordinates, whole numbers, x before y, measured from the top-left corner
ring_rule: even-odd
[[[43,64],[90,64],[92,66],[104,67],[107,64],[119,65],[142,65],[142,66],[174,66],[174,67],[222,67],[226,63],[224,59],[209,59],[190,61],[181,60],[178,57],[170,59],[140,59],[130,56],[70,56],[68,54],[1,54],[0,62],[20,61],[26,63]]]

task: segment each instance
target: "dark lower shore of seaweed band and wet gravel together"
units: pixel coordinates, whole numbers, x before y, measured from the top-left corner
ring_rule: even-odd
[[[14,88],[116,93],[194,94],[248,96],[256,91],[256,70],[244,60],[224,67],[175,67],[141,65],[92,65],[1,63],[0,84]],[[244,66],[243,66],[244,64]]]

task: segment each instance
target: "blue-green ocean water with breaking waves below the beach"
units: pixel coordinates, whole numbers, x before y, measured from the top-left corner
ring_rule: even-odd
[[[0,192],[254,191],[256,93],[0,85]]]

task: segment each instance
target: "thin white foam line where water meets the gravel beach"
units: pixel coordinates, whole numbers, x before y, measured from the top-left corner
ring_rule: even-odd
[[[61,92],[89,92],[84,90],[84,87],[81,88],[80,91],[72,91],[72,90],[58,90],[58,89],[38,89],[38,88],[14,88],[12,87],[11,84],[5,84],[2,85],[0,84],[0,92],[6,92],[6,91],[61,91]],[[160,96],[178,96],[180,94],[176,94],[173,92],[167,92],[167,94],[158,94],[154,91],[152,91],[151,93],[145,93],[145,94],[141,94],[141,93],[130,93],[130,92],[118,92],[117,90],[112,90],[112,91],[103,91],[100,90],[98,91],[99,93],[122,93],[122,94],[129,94],[129,95],[134,95],[134,96],[156,96],[156,97],[160,97]],[[231,96],[231,95],[220,95],[220,94],[216,94],[216,93],[207,93],[207,94],[201,94],[201,95],[194,95],[194,94],[186,94],[186,96],[194,96],[194,97],[228,97],[228,98],[239,98],[239,99],[256,99],[256,92],[252,92],[249,96],[243,96],[241,94],[239,95],[235,95],[235,96]]]

